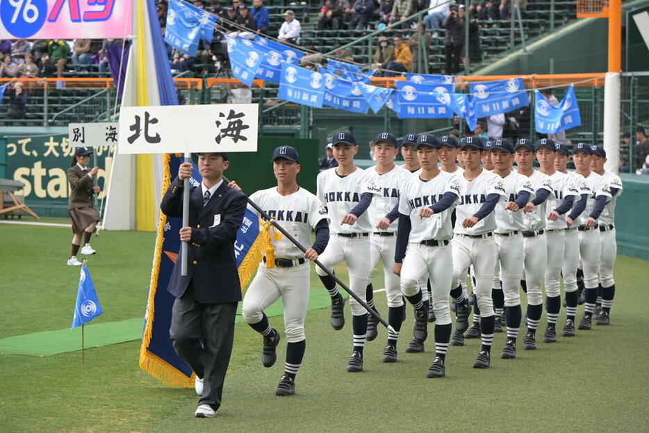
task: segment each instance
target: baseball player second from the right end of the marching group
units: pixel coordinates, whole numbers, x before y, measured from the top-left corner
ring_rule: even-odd
[[[586,202],[584,215],[588,215],[584,224],[580,224],[577,230],[580,231],[580,254],[582,258],[582,269],[584,271],[584,316],[579,324],[579,329],[591,329],[591,319],[597,302],[599,285],[598,270],[600,267],[601,242],[600,231],[598,230],[598,218],[612,198],[604,177],[591,171],[591,155],[597,146],[590,146],[586,143],[577,143],[573,147],[573,161],[575,171],[586,179],[586,185],[591,194]],[[569,222],[572,224],[572,221]]]

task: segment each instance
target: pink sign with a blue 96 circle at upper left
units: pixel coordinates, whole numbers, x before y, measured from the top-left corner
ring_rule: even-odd
[[[0,39],[105,39],[133,34],[131,0],[0,0]]]

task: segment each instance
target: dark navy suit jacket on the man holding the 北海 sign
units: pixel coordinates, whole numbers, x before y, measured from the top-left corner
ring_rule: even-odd
[[[183,183],[178,178],[167,189],[160,209],[170,217],[183,216]],[[236,232],[243,222],[245,195],[222,183],[203,206],[201,186],[190,187],[187,276],[181,277],[179,252],[167,291],[181,297],[190,281],[194,299],[203,304],[224,304],[241,300],[241,284],[234,258]],[[220,222],[215,223],[215,215]],[[174,236],[174,235],[172,235]]]

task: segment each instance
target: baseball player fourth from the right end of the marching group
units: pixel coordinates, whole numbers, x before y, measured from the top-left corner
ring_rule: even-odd
[[[545,222],[545,244],[548,251],[548,261],[545,266],[545,309],[547,311],[548,325],[543,333],[544,343],[557,341],[556,324],[561,311],[561,265],[564,261],[566,213],[573,209],[575,199],[580,198],[577,186],[573,184],[568,174],[554,168],[557,158],[557,145],[550,138],[543,138],[536,142],[536,160],[539,161],[539,171],[550,177],[550,185],[554,194],[546,201],[551,209]]]

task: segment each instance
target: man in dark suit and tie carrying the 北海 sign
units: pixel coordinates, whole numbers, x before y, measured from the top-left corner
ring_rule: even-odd
[[[203,181],[191,187],[189,226],[180,230],[180,240],[189,243],[187,276],[181,276],[179,254],[167,286],[176,297],[170,336],[176,353],[196,373],[195,389],[201,396],[198,418],[214,416],[221,405],[241,300],[234,241],[247,201],[223,182],[228,165],[225,153],[199,154]],[[183,180],[191,175],[192,165],[181,164],[160,205],[165,215],[182,216]]]

